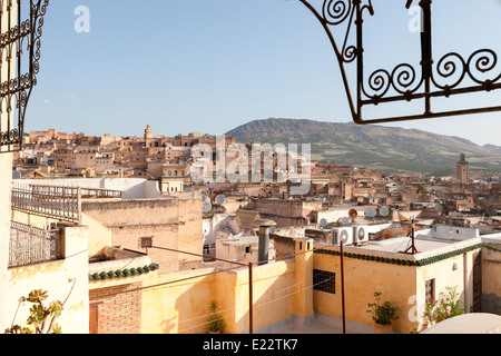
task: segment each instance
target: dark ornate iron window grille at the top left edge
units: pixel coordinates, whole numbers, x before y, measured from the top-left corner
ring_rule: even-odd
[[[0,152],[21,150],[26,110],[40,71],[43,16],[49,0],[24,3],[0,0]]]

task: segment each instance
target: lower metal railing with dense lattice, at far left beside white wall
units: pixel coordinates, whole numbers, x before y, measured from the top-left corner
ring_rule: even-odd
[[[11,221],[9,268],[62,258],[60,230],[43,230]]]

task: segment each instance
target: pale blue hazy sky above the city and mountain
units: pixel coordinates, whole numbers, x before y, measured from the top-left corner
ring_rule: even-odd
[[[419,63],[420,36],[409,30],[405,2],[373,0],[367,76]],[[76,14],[79,7],[88,18]],[[501,1],[433,7],[435,60],[482,48],[501,55]],[[27,131],[141,136],[149,123],[155,135],[174,136],[224,134],[271,117],[351,121],[327,36],[298,0],[51,0],[41,50]],[[499,105],[500,93],[449,105]],[[391,126],[501,146],[501,112]]]

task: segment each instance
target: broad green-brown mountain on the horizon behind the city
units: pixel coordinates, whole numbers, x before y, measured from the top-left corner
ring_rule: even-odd
[[[416,129],[271,118],[226,135],[245,144],[311,144],[312,160],[373,170],[450,175],[464,152],[471,169],[501,171],[501,147]]]

